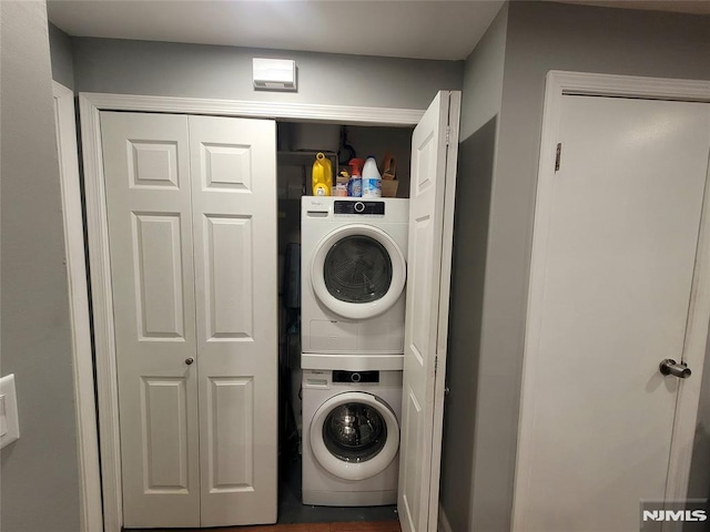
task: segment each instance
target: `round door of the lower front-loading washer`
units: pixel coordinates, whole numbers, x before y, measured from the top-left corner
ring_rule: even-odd
[[[313,416],[311,449],[335,477],[369,479],[387,469],[397,454],[399,423],[392,409],[372,393],[338,393]]]

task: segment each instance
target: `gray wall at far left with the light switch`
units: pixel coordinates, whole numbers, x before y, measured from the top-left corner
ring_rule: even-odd
[[[3,532],[77,532],[69,300],[44,2],[0,2],[2,375],[21,438],[2,450]]]

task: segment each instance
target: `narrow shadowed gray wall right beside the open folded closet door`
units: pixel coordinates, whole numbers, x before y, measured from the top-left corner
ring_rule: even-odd
[[[440,502],[452,530],[470,530],[474,468],[485,467],[476,426],[496,411],[476,408],[490,185],[503,99],[508,8],[466,61],[458,146]],[[474,413],[476,412],[476,413]],[[495,480],[495,479],[493,479]]]

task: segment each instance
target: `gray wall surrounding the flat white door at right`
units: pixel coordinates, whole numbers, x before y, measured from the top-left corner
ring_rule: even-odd
[[[508,14],[483,287],[475,434],[477,466],[473,521],[468,529],[477,532],[499,532],[510,526],[547,71],[710,79],[710,17],[707,16],[550,2],[511,2]],[[710,471],[701,474],[707,478]],[[696,482],[700,481],[696,479]]]

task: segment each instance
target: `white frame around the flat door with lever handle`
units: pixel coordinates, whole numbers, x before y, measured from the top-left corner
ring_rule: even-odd
[[[542,291],[540,288],[545,276],[545,249],[550,229],[549,215],[561,104],[562,96],[567,94],[710,102],[710,82],[554,70],[547,73],[523,357],[523,386],[511,512],[514,530],[516,529],[516,523],[519,523],[523,518],[523,501],[518,495],[524,488],[521,485],[524,483],[521,479],[524,477],[523,471],[529,468],[531,460],[531,444],[525,436],[531,434],[532,413],[535,410],[535,393],[532,390],[535,368],[539,356],[538,344],[542,307]],[[709,182],[710,168],[706,177],[706,195],[700,222],[683,351],[683,360],[692,368],[694,378],[683,380],[679,388],[666,484],[667,501],[682,501],[686,499],[692,459],[702,366],[708,338],[708,320],[710,318]]]

